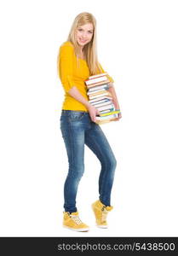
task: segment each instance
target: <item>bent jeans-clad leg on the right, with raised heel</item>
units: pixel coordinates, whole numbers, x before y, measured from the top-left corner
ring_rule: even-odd
[[[111,191],[117,160],[112,152],[100,125],[92,123],[91,129],[85,131],[85,144],[100,160],[101,170],[99,177],[100,201],[105,206],[111,205]]]

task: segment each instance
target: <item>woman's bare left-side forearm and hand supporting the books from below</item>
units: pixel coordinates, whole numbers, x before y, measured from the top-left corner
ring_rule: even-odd
[[[83,103],[83,105],[89,110],[89,116],[93,122],[96,121],[95,116],[100,114],[99,110],[92,106],[79,92],[76,86],[72,86],[70,90],[68,90],[68,94],[75,98],[78,102]]]

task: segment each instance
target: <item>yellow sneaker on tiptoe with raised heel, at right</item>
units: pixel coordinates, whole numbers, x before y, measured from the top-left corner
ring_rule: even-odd
[[[106,217],[107,213],[112,211],[113,207],[106,207],[101,203],[100,200],[95,201],[91,205],[94,213],[95,213],[95,220],[96,220],[96,225],[98,228],[101,229],[106,229],[107,228],[107,222],[106,222]]]

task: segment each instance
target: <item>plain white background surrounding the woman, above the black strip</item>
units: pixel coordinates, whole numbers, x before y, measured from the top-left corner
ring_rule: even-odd
[[[74,18],[97,20],[98,55],[123,118],[102,125],[118,160],[109,229],[95,227],[100,162],[85,148],[78,212],[88,233],[62,228],[66,148],[60,44]],[[178,236],[177,1],[0,2],[0,236]]]

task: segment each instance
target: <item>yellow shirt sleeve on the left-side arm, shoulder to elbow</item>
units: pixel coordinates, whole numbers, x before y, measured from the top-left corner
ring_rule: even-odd
[[[75,85],[73,82],[73,54],[72,46],[60,46],[59,75],[66,92]]]

